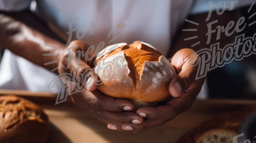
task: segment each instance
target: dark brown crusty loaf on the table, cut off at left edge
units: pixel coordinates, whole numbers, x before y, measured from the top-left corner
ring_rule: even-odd
[[[48,117],[36,104],[16,96],[0,96],[0,142],[46,143]]]

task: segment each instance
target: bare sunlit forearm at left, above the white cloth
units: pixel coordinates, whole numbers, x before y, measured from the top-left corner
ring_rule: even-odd
[[[34,22],[34,24],[28,22],[27,24],[18,21],[20,16],[17,16],[17,14],[11,14],[11,17],[1,14],[0,46],[50,71],[58,67],[60,57],[66,48],[65,44],[55,40],[57,39],[56,36],[44,25],[40,25],[40,22]],[[26,18],[24,19],[26,20]],[[30,18],[30,20],[34,19]],[[44,32],[31,28],[32,25],[34,25],[34,28],[43,28],[41,31]],[[46,35],[53,35],[55,39]],[[49,64],[49,62],[52,63]],[[58,73],[57,70],[54,72]]]

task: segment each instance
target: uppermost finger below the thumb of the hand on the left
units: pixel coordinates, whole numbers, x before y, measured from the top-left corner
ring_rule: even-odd
[[[134,106],[130,101],[115,99],[113,97],[103,95],[97,90],[92,92],[84,90],[82,93],[78,92],[72,94],[71,97],[75,104],[88,104],[98,110],[123,111],[134,109]]]

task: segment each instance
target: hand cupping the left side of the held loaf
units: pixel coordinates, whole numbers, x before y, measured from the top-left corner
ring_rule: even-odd
[[[84,54],[79,54],[82,52]],[[96,90],[98,78],[92,70],[94,52],[94,49],[90,49],[83,41],[75,40],[69,44],[59,63],[60,75],[72,72],[76,78],[75,82],[65,78],[66,76],[61,76],[73,103],[88,111],[96,119],[107,123],[109,129],[123,131],[121,125],[125,123],[142,123],[143,118],[131,111],[134,106],[130,101],[115,99]],[[85,88],[74,92],[80,86]]]

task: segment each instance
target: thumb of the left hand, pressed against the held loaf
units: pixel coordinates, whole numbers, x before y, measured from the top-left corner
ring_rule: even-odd
[[[98,77],[89,66],[91,65],[90,63],[92,63],[91,57],[93,57],[94,55],[92,53],[86,54],[87,49],[88,45],[86,45],[82,41],[77,40],[71,42],[67,47],[67,52],[64,54],[61,59],[61,63],[59,64],[61,67],[59,68],[59,73],[73,74],[76,77],[77,82],[80,82],[87,90],[94,91],[97,88],[96,83],[98,81]],[[87,59],[90,61],[88,61]],[[73,78],[71,77],[71,79]],[[63,82],[67,82],[66,80],[68,79],[64,78]]]

